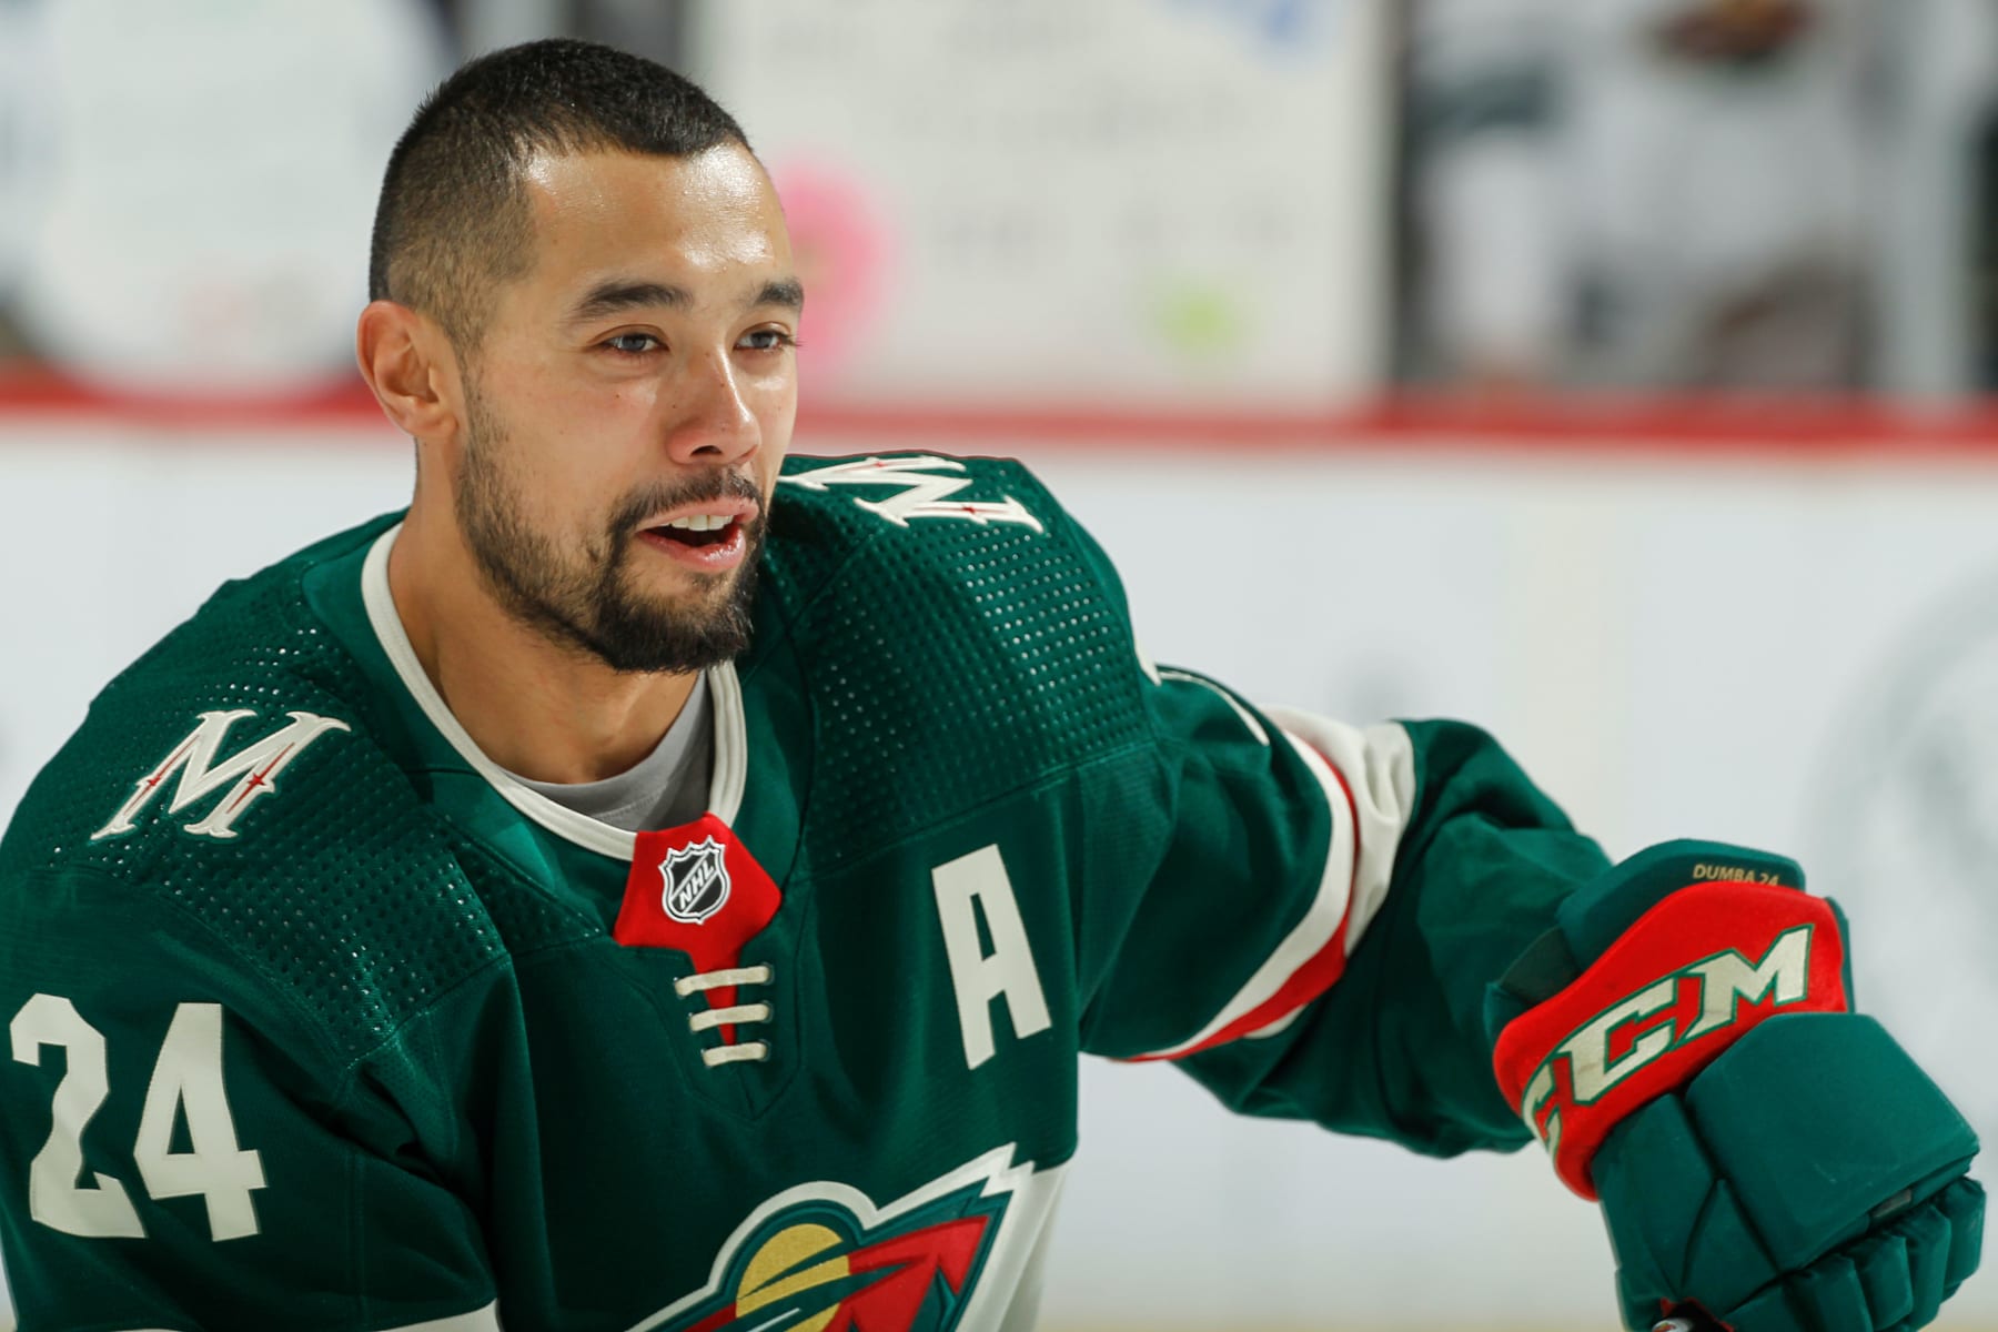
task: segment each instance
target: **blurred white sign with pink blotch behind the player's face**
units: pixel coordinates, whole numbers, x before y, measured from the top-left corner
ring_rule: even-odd
[[[695,4],[819,399],[1331,405],[1387,343],[1385,0]]]

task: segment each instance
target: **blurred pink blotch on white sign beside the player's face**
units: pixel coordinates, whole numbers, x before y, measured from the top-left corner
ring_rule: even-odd
[[[813,377],[835,377],[879,314],[893,238],[867,190],[837,168],[789,162],[771,178],[805,284],[801,367]]]

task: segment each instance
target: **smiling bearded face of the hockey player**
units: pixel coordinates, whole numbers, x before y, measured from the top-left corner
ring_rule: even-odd
[[[464,365],[466,545],[515,619],[617,671],[725,661],[797,411],[777,196],[741,148],[549,156],[527,192],[533,270]]]

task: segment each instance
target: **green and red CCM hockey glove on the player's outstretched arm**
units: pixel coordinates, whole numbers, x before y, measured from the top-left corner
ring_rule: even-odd
[[[1668,843],[1562,903],[1493,987],[1498,1084],[1600,1198],[1624,1322],[1912,1330],[1976,1270],[1976,1136],[1872,1018],[1782,857]]]

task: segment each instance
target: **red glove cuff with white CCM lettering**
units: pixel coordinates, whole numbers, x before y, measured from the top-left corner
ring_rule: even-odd
[[[1762,1018],[1844,1012],[1844,963],[1822,897],[1694,883],[1498,1032],[1498,1088],[1562,1182],[1594,1200],[1588,1164],[1622,1116],[1690,1082]]]

